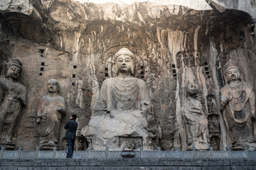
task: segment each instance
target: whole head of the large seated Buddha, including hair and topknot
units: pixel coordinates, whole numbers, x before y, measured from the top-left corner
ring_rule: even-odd
[[[134,54],[125,47],[121,48],[114,55],[114,69],[117,74],[119,72],[134,74]]]

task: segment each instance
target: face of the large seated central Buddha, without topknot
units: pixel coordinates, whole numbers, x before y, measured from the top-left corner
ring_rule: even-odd
[[[118,72],[132,72],[132,58],[128,55],[119,55],[116,60]]]

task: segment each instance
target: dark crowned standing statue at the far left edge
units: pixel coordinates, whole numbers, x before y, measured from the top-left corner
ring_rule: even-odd
[[[26,87],[17,82],[22,71],[18,59],[4,65],[6,78],[0,78],[0,140],[7,149],[14,149],[12,137],[22,106],[26,106]]]

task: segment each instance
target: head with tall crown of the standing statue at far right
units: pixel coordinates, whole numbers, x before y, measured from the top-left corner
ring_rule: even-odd
[[[224,66],[224,76],[226,81],[236,81],[240,79],[240,68],[238,62],[234,62],[233,60],[229,60]]]

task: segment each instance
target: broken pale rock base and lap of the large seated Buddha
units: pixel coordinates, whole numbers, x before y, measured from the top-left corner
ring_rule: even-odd
[[[89,146],[95,150],[121,150],[122,147],[137,149],[149,148],[150,137],[146,130],[147,121],[140,111],[111,111],[93,115],[89,125],[82,128]]]

